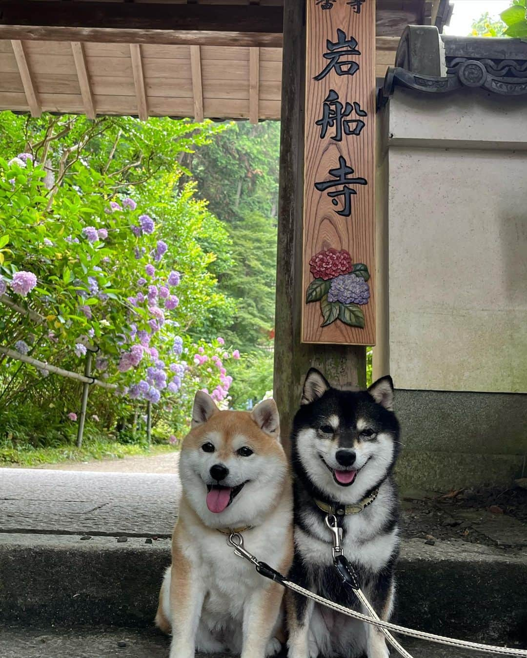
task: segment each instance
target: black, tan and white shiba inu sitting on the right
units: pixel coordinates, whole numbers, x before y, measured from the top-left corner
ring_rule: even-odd
[[[295,554],[289,577],[301,586],[364,614],[332,557],[332,513],[343,530],[345,557],[381,619],[393,610],[393,565],[399,553],[399,503],[392,471],[399,453],[393,383],[368,391],[332,388],[312,368],[293,422]],[[388,658],[384,636],[288,593],[289,658]]]

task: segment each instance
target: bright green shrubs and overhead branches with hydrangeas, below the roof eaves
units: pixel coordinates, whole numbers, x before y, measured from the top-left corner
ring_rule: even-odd
[[[0,354],[3,440],[16,440],[27,405],[47,419],[34,442],[70,439],[80,386],[48,376],[45,363],[82,372],[92,349],[94,376],[118,395],[93,387],[89,422],[122,440],[145,401],[164,399],[155,420],[174,434],[196,388],[227,403],[226,367],[239,353],[221,330],[236,303],[216,272],[232,266],[232,240],[181,181],[182,155],[225,128],[0,114],[1,343],[43,363]],[[36,313],[19,310],[29,307]]]

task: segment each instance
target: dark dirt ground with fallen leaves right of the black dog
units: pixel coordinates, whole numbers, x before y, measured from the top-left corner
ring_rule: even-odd
[[[409,492],[402,497],[403,537],[463,540],[503,551],[527,547],[527,490],[460,490],[446,495]]]

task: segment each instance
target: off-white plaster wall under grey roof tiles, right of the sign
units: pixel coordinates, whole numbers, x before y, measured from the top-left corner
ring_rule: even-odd
[[[466,124],[474,95],[465,101]],[[415,97],[390,101],[390,133],[396,140],[404,123],[405,141],[391,141],[388,156],[389,369],[397,388],[527,392],[527,122],[518,150],[485,149],[482,135],[499,138],[485,132],[495,122],[507,123],[510,143],[518,99],[507,120],[495,99],[478,103],[478,130],[450,133],[462,147],[436,147],[444,103],[434,112],[428,101],[413,139]]]

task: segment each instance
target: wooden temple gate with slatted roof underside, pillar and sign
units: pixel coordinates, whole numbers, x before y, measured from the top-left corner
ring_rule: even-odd
[[[384,78],[388,66],[393,66],[407,24],[435,23],[442,28],[448,13],[448,0],[377,0],[376,5],[374,0],[0,0],[0,110],[33,116],[44,111],[82,113],[88,118],[130,114],[143,120],[149,116],[193,117],[197,121],[207,117],[248,119],[254,123],[282,120],[274,395],[287,436],[291,410],[297,405],[309,367],[319,367],[337,384],[365,383],[364,345],[374,343],[375,310],[374,78]],[[339,30],[338,20],[344,19],[345,30]],[[359,30],[357,34],[365,41],[355,43],[355,52],[370,55],[363,57],[360,75],[346,84],[334,80],[331,89],[314,91],[309,74],[306,90],[316,48],[329,41],[329,50],[320,53],[320,58],[326,59],[320,61],[333,61],[336,68],[338,57],[332,59],[331,53],[340,49],[341,54],[349,55],[353,41],[361,40],[349,33],[351,28]],[[315,49],[314,35],[318,39]],[[353,64],[346,64],[343,73],[347,75],[339,74],[339,78],[353,76]],[[363,77],[366,69],[368,76]],[[360,99],[355,91],[360,91]],[[324,229],[313,244],[322,250],[339,250],[348,249],[350,241],[361,241],[360,253],[353,254],[355,269],[347,272],[357,272],[362,278],[361,290],[367,288],[372,296],[368,307],[331,303],[330,284],[324,280],[313,296],[321,305],[320,311],[318,304],[315,311],[305,299],[311,278],[308,251],[303,248],[305,230],[311,228],[305,226],[316,219],[319,203],[311,199],[314,211],[304,218],[304,170],[309,169],[312,157],[304,143],[306,130],[314,124],[310,119],[308,125],[306,116],[320,116],[324,105],[329,113],[326,128],[334,128],[337,102],[341,103],[343,139],[324,133],[326,142],[318,144],[318,157],[320,162],[328,161],[323,155],[327,143],[344,162],[337,157],[330,163],[332,171],[328,172],[328,167],[320,170],[322,182],[317,185],[324,188],[324,181],[327,185],[328,175],[338,170],[339,163],[344,178],[353,173],[352,156],[359,157],[368,173],[361,174],[357,166],[354,180],[359,181],[359,189],[344,194],[343,199],[330,201],[331,193],[327,199],[326,192],[321,193],[326,205],[333,203],[324,213],[334,211],[331,223],[336,228],[329,233]],[[331,103],[333,109],[328,109]],[[368,120],[363,120],[366,116]],[[357,132],[360,124],[365,127]],[[361,183],[366,180],[369,188]],[[366,197],[359,238],[355,228],[348,231],[343,227],[351,225],[351,207],[357,204],[363,209],[361,199]],[[347,203],[346,221],[342,216]],[[334,244],[336,236],[339,244]],[[367,276],[359,265],[366,267]],[[366,286],[363,282],[370,274],[372,280]],[[362,320],[361,314],[365,316]],[[303,316],[311,318],[304,327]],[[320,329],[323,320],[331,322]]]

